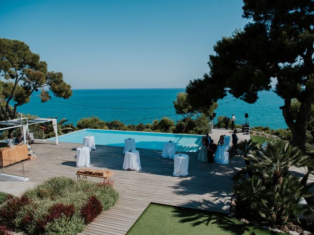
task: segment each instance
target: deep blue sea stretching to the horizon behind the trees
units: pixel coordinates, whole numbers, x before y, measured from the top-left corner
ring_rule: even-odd
[[[78,119],[99,117],[105,121],[120,120],[125,124],[147,124],[155,119],[168,117],[174,121],[182,119],[176,115],[173,101],[184,88],[169,89],[95,89],[73,90],[69,99],[58,98],[42,103],[39,92],[32,94],[30,102],[19,107],[24,114],[40,118],[66,118],[76,124]],[[279,109],[284,104],[281,97],[272,91],[262,91],[254,104],[248,104],[229,95],[218,101],[215,110],[216,118],[235,115],[236,123],[246,121],[251,126],[268,126],[272,129],[287,128],[282,112]],[[216,121],[216,119],[215,119]]]

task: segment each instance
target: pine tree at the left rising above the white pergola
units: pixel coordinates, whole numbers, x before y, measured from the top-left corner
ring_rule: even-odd
[[[0,38],[0,79],[0,110],[6,119],[16,118],[17,108],[28,103],[34,91],[41,91],[42,102],[51,99],[47,89],[57,97],[72,95],[62,73],[48,71],[47,63],[18,40]]]

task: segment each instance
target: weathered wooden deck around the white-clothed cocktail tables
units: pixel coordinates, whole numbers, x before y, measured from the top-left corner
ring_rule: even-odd
[[[249,138],[245,136],[242,138]],[[76,178],[77,143],[34,143],[38,158],[24,162],[26,177],[37,184],[52,176]],[[189,155],[189,175],[173,177],[173,160],[161,157],[161,151],[138,149],[140,171],[122,170],[122,147],[97,145],[91,152],[91,168],[106,168],[115,172],[114,187],[120,192],[118,203],[103,211],[81,235],[123,235],[151,203],[193,209],[229,212],[233,173],[244,164],[233,158],[229,165],[202,163],[197,153]],[[100,181],[99,179],[92,179]]]

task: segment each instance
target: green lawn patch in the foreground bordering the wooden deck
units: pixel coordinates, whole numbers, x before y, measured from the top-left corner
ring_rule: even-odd
[[[270,235],[226,214],[150,204],[127,235]],[[284,234],[281,234],[284,235]]]

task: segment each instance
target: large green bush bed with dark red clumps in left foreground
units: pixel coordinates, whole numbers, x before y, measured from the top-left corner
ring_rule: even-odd
[[[29,235],[75,235],[85,227],[81,214],[90,197],[100,203],[94,211],[102,211],[117,202],[119,193],[110,185],[54,177],[0,205],[0,222]]]

